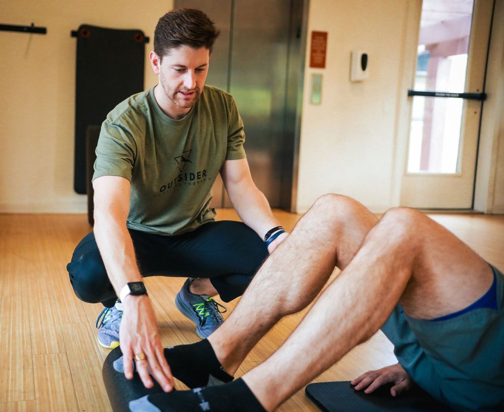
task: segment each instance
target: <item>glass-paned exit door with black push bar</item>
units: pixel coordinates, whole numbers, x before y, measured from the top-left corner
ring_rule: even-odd
[[[492,9],[423,0],[402,205],[472,209]]]

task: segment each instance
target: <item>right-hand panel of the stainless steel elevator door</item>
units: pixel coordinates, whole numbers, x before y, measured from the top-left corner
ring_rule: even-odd
[[[229,93],[245,125],[253,179],[272,207],[280,206],[290,3],[235,0],[234,6]]]

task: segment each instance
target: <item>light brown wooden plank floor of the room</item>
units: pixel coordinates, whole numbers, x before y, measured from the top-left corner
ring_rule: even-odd
[[[281,211],[275,214],[287,229],[299,219]],[[236,219],[236,215],[224,210],[219,218]],[[432,218],[485,259],[504,267],[504,216]],[[101,307],[75,297],[65,268],[89,230],[84,215],[0,215],[0,412],[110,410],[101,378],[108,351],[97,345],[94,328]],[[182,283],[176,278],[147,279],[164,346],[199,340],[191,322],[174,305]],[[287,317],[270,331],[238,375],[275,351],[301,317],[302,313]],[[379,332],[317,381],[350,380],[394,361],[390,342]],[[301,390],[279,410],[318,409]]]

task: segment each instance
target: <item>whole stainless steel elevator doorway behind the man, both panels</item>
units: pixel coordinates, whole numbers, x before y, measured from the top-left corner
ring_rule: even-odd
[[[254,182],[272,207],[285,209],[290,209],[295,128],[290,123],[295,121],[296,110],[287,104],[295,105],[297,100],[297,77],[294,82],[288,79],[295,77],[304,63],[294,62],[298,70],[293,71],[292,58],[289,60],[289,53],[299,56],[297,49],[291,50],[299,48],[301,16],[293,13],[294,8],[299,10],[299,4],[302,1],[174,1],[175,8],[203,10],[221,30],[207,84],[234,97],[245,126],[245,151]],[[231,206],[219,185],[214,185],[212,205]]]

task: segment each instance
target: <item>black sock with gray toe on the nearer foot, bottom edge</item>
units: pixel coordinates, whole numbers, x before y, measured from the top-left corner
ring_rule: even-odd
[[[154,409],[155,407],[156,409]],[[266,412],[240,378],[220,386],[157,393],[130,402],[132,412]]]

